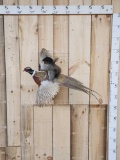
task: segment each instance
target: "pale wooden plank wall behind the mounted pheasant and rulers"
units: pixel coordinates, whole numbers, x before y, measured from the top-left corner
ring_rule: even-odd
[[[120,12],[119,0],[0,0],[2,4],[112,4]],[[0,160],[106,160],[111,31],[112,15],[0,15]],[[38,87],[23,69],[38,70],[43,47],[59,57],[62,73],[99,92],[103,104],[62,88],[54,105],[36,106]],[[119,125],[120,116],[117,160]]]

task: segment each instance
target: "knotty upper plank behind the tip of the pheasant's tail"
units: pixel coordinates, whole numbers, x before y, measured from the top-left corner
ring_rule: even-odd
[[[108,104],[110,33],[111,16],[92,15],[90,86],[102,96],[103,104]],[[90,103],[98,104],[98,101],[91,96]]]

